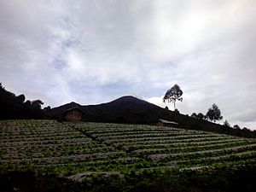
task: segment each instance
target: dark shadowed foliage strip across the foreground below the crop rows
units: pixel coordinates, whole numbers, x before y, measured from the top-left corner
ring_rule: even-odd
[[[74,192],[254,192],[255,165],[216,166],[199,170],[159,169],[127,172],[123,177],[94,174],[82,182],[35,172],[9,172],[0,175],[3,191]]]

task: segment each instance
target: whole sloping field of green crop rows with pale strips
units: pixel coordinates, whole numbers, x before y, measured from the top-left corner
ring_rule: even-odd
[[[151,125],[0,121],[0,170],[55,173],[81,179],[256,163],[256,139]]]

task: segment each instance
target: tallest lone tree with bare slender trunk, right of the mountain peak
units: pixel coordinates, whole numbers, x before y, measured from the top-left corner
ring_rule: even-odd
[[[173,102],[174,109],[176,109],[176,101],[183,101],[183,91],[180,89],[180,87],[177,84],[174,84],[174,86],[166,91],[166,95],[164,96],[163,102]]]

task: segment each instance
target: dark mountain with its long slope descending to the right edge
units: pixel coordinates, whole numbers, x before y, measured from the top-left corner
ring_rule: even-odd
[[[160,108],[134,96],[123,96],[113,102],[99,105],[81,106],[71,102],[52,108],[48,114],[53,118],[58,118],[65,110],[74,107],[79,107],[84,111],[84,121],[154,125],[159,119],[166,119],[175,121],[179,127],[187,129],[213,131],[238,137],[256,137],[256,131],[233,129],[207,120],[191,118],[189,115]]]

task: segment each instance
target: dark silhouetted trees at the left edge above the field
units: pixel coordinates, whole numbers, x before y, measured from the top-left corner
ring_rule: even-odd
[[[0,119],[44,119],[44,111],[50,108],[43,110],[43,104],[40,100],[26,100],[23,94],[15,96],[0,83]]]

